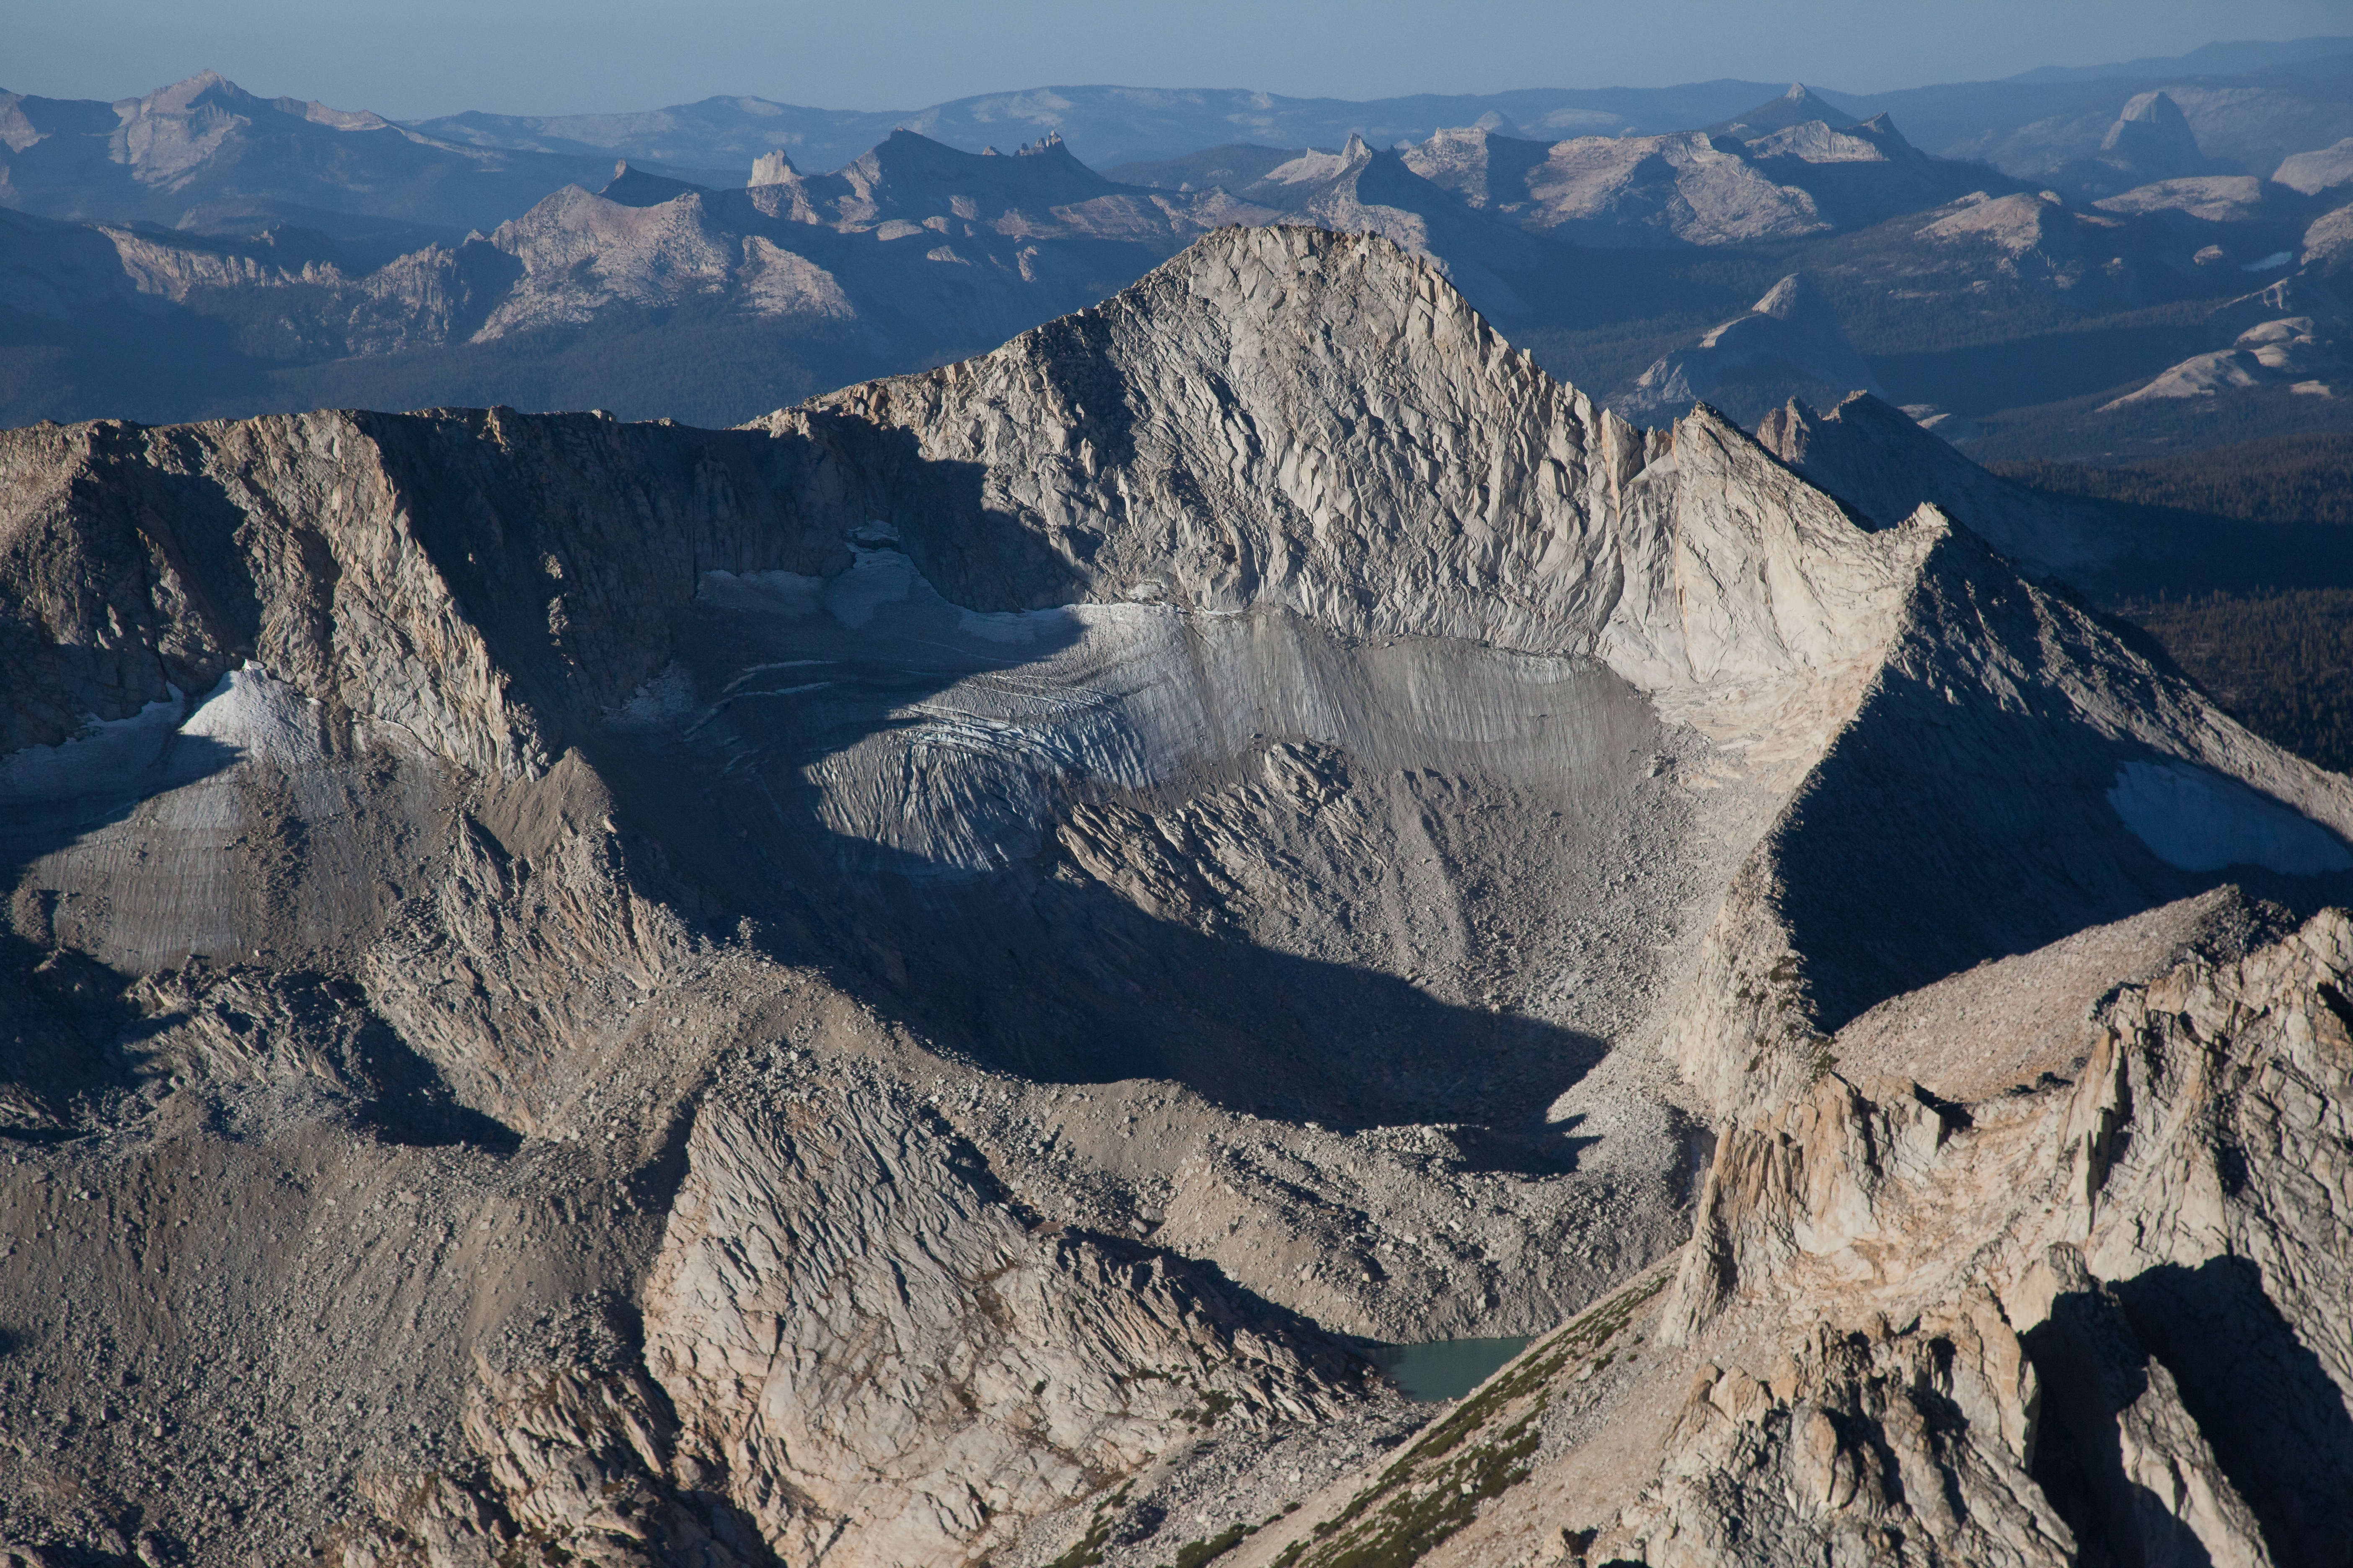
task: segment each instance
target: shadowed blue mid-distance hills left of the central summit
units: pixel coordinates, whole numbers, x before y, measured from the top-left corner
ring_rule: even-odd
[[[381,266],[282,228],[212,240],[7,214],[0,301],[31,339],[12,409],[471,400],[725,421],[981,348],[1207,228],[1273,216],[1118,186],[1059,143],[991,158],[896,134],[835,174],[769,160],[762,181],[713,190],[624,165],[602,193],[567,186]]]

